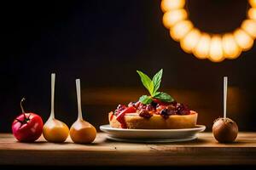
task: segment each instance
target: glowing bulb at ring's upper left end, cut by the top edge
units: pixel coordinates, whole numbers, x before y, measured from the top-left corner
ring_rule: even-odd
[[[162,0],[161,9],[163,12],[170,11],[176,8],[183,8],[185,0]]]

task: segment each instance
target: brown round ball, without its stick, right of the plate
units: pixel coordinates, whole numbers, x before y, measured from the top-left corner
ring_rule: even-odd
[[[213,123],[212,133],[219,143],[230,143],[236,140],[238,127],[230,118],[218,118]]]

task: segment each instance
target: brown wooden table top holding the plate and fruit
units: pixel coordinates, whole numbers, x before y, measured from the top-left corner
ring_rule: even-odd
[[[98,133],[93,144],[18,143],[11,134],[0,134],[0,165],[83,166],[185,166],[255,165],[256,133],[239,133],[236,143],[218,144],[212,133],[198,139],[171,144],[112,142]]]

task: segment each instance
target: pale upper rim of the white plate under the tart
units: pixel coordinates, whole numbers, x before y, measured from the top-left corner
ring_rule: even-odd
[[[100,129],[105,131],[116,131],[116,132],[183,132],[183,131],[204,131],[206,129],[205,125],[195,125],[195,127],[192,128],[177,128],[177,129],[131,129],[131,128],[116,128],[116,127],[110,127],[109,124],[101,125]]]

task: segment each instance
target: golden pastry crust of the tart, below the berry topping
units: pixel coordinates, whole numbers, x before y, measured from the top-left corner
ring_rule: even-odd
[[[127,128],[135,129],[192,128],[196,125],[197,115],[195,111],[190,111],[190,115],[172,115],[166,119],[160,115],[153,115],[146,119],[137,113],[131,113],[125,115],[125,123]],[[111,127],[121,128],[121,124],[116,120],[113,112],[108,114],[108,120]]]

